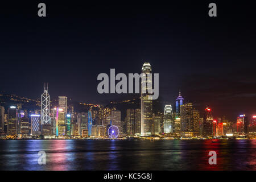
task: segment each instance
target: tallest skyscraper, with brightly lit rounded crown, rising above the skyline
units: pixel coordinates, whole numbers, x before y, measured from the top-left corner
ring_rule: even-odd
[[[146,74],[146,78],[142,78],[141,82],[141,136],[148,136],[152,133],[152,100],[151,94],[147,93],[148,89],[152,89],[148,86],[152,80],[147,75],[151,72],[150,63],[144,63],[142,73]]]

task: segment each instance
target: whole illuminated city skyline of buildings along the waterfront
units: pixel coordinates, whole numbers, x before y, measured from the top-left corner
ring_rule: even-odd
[[[172,105],[165,105],[160,111],[154,110],[152,93],[148,91],[152,89],[153,80],[148,76],[151,73],[153,73],[151,64],[145,62],[142,65],[144,75],[139,84],[141,109],[138,106],[136,109],[127,109],[124,120],[121,119],[123,110],[118,110],[120,108],[115,106],[88,104],[87,109],[78,112],[74,105],[68,102],[66,96],[59,96],[57,102],[51,104],[48,84],[44,84],[44,93],[39,103],[30,110],[23,109],[23,104],[18,102],[10,105],[1,101],[7,107],[6,112],[1,107],[4,113],[1,114],[0,120],[1,126],[4,126],[1,137],[12,139],[16,137],[108,138],[108,136],[110,138],[157,136],[157,138],[173,139],[254,137],[256,115],[239,114],[234,122],[225,116],[214,114],[214,109],[209,106],[205,106],[204,111],[200,113],[194,104],[181,96],[180,90],[175,100],[175,109],[172,109]],[[158,80],[154,79],[155,81]],[[35,107],[38,105],[41,106],[40,110]]]

